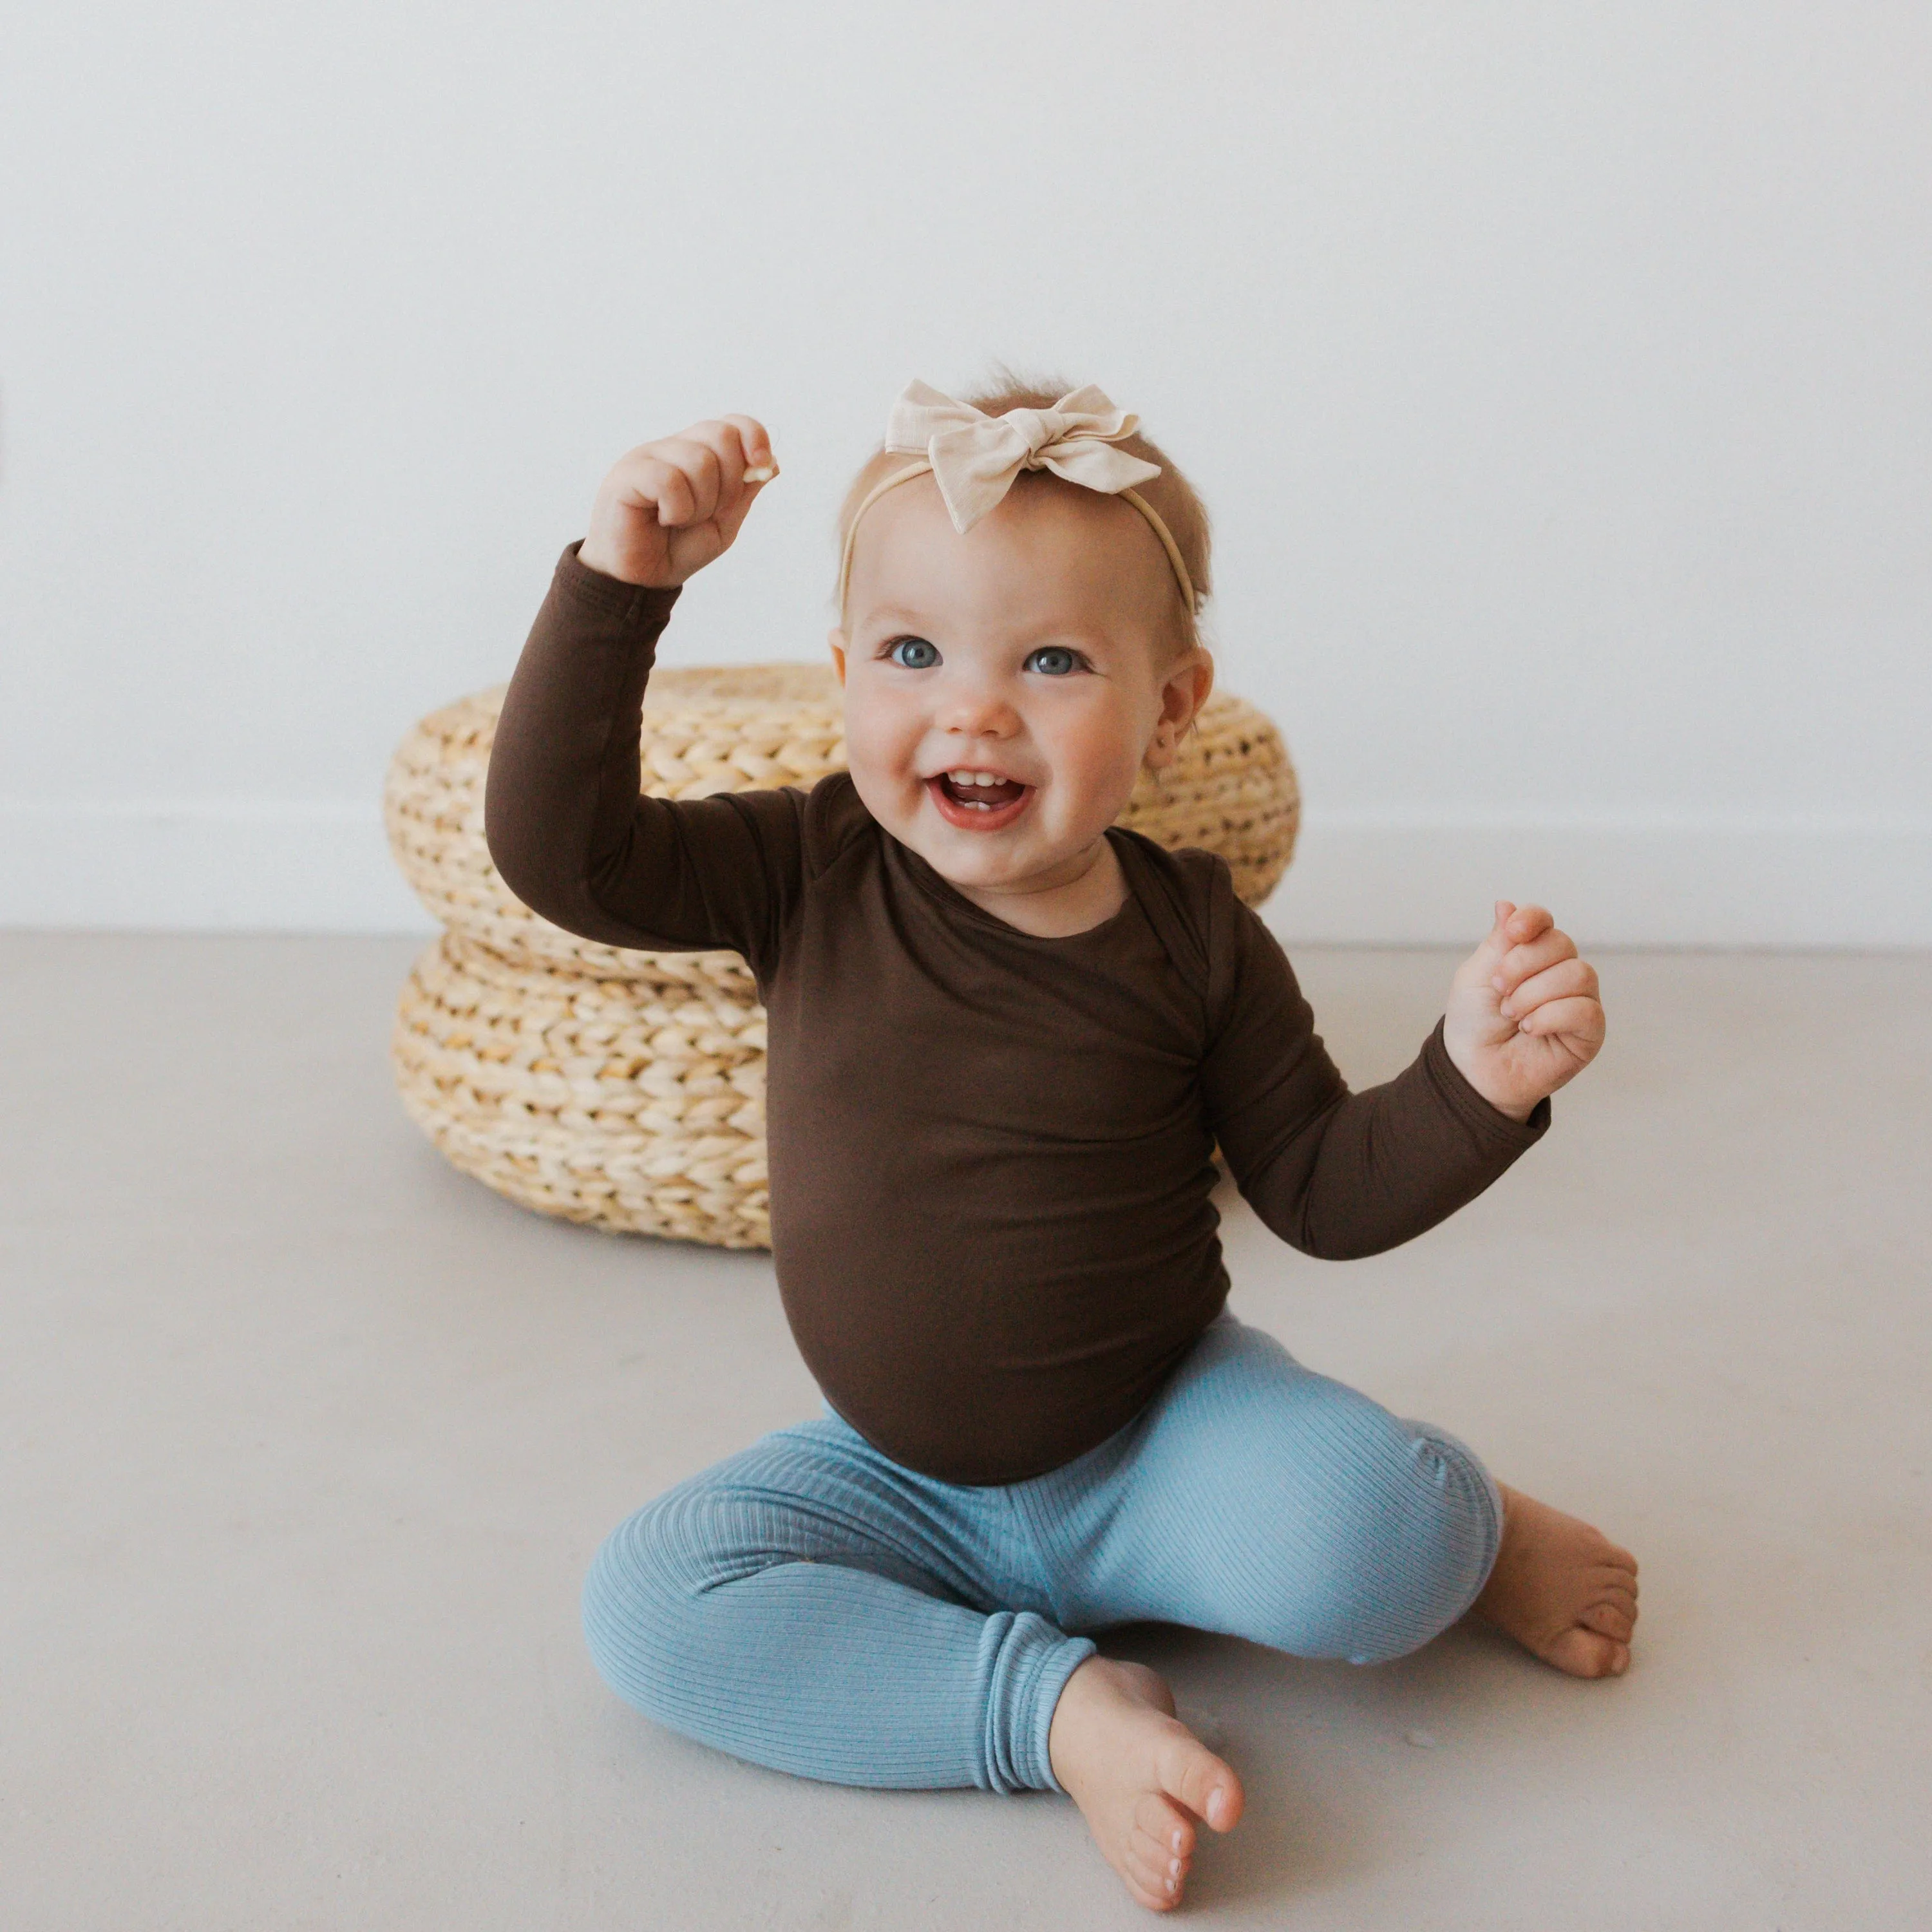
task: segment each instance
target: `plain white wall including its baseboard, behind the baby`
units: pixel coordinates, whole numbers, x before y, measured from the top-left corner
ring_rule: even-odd
[[[68,0],[0,56],[0,920],[419,920],[375,798],[605,468],[786,473],[674,659],[821,649],[908,375],[1217,518],[1302,937],[1932,943],[1932,14]]]

